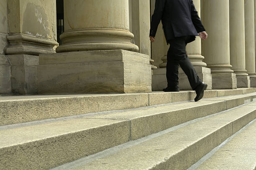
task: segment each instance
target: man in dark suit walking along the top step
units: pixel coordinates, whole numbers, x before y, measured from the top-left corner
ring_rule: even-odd
[[[151,18],[150,40],[155,41],[156,30],[162,21],[167,44],[165,92],[179,91],[179,65],[188,77],[190,86],[196,91],[195,101],[204,95],[207,84],[198,77],[193,65],[187,57],[186,45],[195,40],[195,36],[207,39],[207,33],[197,14],[193,0],[156,0],[154,14]]]

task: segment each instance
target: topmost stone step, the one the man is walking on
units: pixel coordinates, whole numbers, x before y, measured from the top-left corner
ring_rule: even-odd
[[[242,95],[256,88],[207,90],[204,98]],[[1,96],[0,126],[110,110],[193,100],[195,91],[134,94]]]

